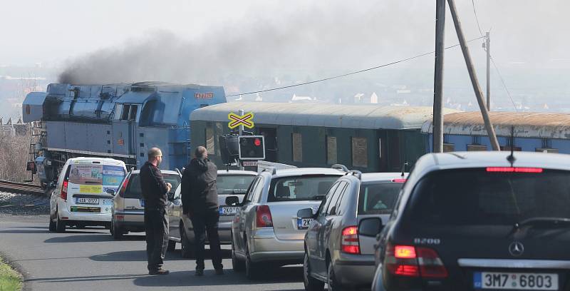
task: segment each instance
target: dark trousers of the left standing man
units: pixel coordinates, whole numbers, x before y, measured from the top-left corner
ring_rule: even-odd
[[[158,270],[164,263],[168,247],[168,216],[164,208],[145,208],[145,230],[148,270]]]

